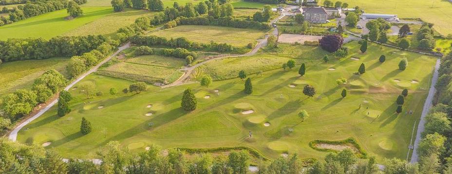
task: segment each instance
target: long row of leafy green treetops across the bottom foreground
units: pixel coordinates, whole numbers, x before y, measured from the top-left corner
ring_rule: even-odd
[[[118,141],[110,141],[97,153],[101,160],[97,165],[87,159],[63,161],[53,150],[0,138],[0,153],[0,173],[6,174],[246,174],[250,164],[257,168],[258,174],[419,174],[417,164],[397,158],[384,159],[385,167],[380,171],[375,157],[360,159],[350,149],[329,153],[324,162],[307,163],[297,154],[253,160],[245,150],[232,150],[228,155],[219,156],[198,152],[188,159],[182,149],[168,149],[163,155],[161,147],[152,144],[149,150],[134,155]]]

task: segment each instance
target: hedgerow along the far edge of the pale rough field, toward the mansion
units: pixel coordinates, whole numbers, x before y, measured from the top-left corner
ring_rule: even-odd
[[[165,28],[173,28],[177,25],[214,25],[232,28],[251,28],[257,30],[269,30],[271,27],[267,23],[253,20],[245,20],[235,17],[200,16],[200,17],[177,17],[165,24]]]

